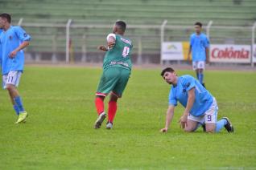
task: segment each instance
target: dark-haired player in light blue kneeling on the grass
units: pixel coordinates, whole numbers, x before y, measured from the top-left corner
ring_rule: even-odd
[[[195,78],[191,75],[178,77],[171,67],[165,68],[161,76],[172,87],[165,127],[160,132],[167,132],[178,101],[185,107],[184,114],[180,117],[180,126],[185,132],[194,132],[203,123],[206,132],[220,132],[223,127],[228,132],[233,132],[233,126],[227,117],[217,121],[216,99]]]

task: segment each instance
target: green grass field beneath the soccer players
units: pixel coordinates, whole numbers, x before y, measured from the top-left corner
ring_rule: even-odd
[[[218,118],[229,117],[233,134],[183,132],[180,106],[161,134],[170,87],[160,71],[134,69],[109,131],[105,123],[93,129],[100,68],[26,67],[19,91],[27,123],[14,124],[7,91],[0,91],[0,169],[256,169],[255,72],[205,72]]]

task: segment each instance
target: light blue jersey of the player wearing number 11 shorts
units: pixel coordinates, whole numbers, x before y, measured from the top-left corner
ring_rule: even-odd
[[[24,41],[30,41],[31,36],[20,26],[10,26],[6,31],[0,34],[0,47],[2,58],[2,75],[8,74],[10,71],[23,71],[24,52],[17,52],[14,59],[10,59],[10,53],[14,51]]]

